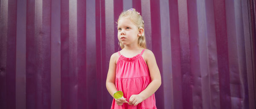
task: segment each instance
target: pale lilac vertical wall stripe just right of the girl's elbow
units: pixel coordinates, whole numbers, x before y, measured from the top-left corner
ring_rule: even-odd
[[[163,60],[163,94],[164,94],[164,109],[173,108],[173,90],[172,90],[172,60],[166,60],[172,56],[171,37],[170,36],[170,15],[169,2],[160,0],[160,23],[161,23],[161,46]]]

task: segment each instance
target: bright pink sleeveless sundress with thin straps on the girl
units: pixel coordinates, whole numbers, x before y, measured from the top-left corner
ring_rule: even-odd
[[[124,93],[124,98],[127,98],[128,102],[131,95],[139,94],[151,82],[148,66],[141,56],[144,50],[145,49],[143,49],[140,54],[131,58],[124,57],[118,52],[120,57],[116,63],[115,84],[116,89]],[[115,99],[113,99],[111,109],[157,109],[157,107],[153,94],[137,106],[131,106],[128,105],[128,103],[123,103],[122,106],[118,106]]]

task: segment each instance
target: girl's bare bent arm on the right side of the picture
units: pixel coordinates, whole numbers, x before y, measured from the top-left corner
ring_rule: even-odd
[[[160,71],[157,66],[157,61],[154,57],[153,52],[146,49],[144,57],[148,65],[148,69],[151,77],[151,83],[149,83],[146,89],[140,92],[139,94],[143,100],[153,95],[154,92],[156,92],[161,85],[161,75],[160,75]]]

